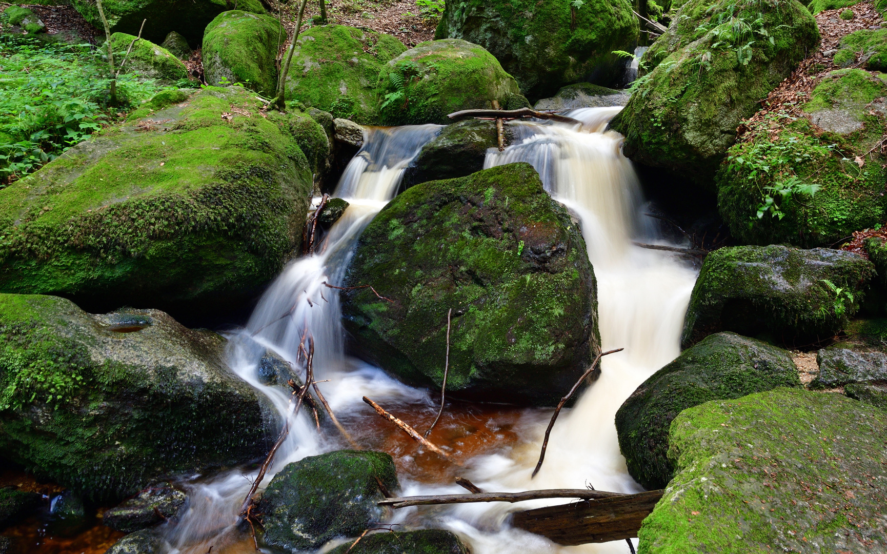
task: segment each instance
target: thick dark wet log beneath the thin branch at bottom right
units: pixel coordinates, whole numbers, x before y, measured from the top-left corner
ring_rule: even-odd
[[[564,546],[621,541],[638,536],[640,523],[663,493],[655,490],[518,511],[512,514],[511,524]]]

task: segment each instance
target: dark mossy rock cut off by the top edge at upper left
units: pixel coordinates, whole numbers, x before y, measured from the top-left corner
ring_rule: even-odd
[[[104,28],[93,0],[71,0],[71,4],[92,27]],[[137,35],[142,20],[147,20],[142,38],[159,44],[176,31],[194,48],[200,48],[203,29],[219,13],[266,12],[260,0],[105,0],[102,9],[112,33]]]

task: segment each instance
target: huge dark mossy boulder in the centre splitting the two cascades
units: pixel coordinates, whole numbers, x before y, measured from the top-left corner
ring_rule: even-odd
[[[599,351],[577,223],[529,163],[412,186],[360,235],[341,294],[352,349],[409,384],[553,406]]]

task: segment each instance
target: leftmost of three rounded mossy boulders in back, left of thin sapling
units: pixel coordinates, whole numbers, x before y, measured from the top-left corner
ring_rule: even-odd
[[[276,59],[287,30],[270,15],[222,12],[203,31],[203,75],[207,83],[243,83],[267,96],[277,90]]]

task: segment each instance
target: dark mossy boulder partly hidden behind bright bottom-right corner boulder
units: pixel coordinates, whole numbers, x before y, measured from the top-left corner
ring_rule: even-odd
[[[706,337],[640,384],[616,412],[628,472],[648,489],[668,484],[675,469],[669,427],[684,409],[800,384],[789,352],[734,333]]]

